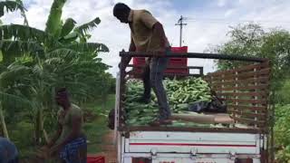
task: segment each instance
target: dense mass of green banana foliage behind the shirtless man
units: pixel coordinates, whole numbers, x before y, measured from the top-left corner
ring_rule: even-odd
[[[15,2],[22,5],[19,0]],[[43,124],[49,131],[55,125],[56,88],[66,87],[78,104],[105,98],[111,88],[111,74],[105,72],[109,66],[98,58],[98,53],[109,52],[109,48],[102,43],[87,43],[88,31],[100,19],[78,28],[72,18],[63,24],[65,2],[53,1],[45,31],[28,25],[0,24],[0,99],[6,121],[28,120],[34,124],[31,137],[38,144]]]

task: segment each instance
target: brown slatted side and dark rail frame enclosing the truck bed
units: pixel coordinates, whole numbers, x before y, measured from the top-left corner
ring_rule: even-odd
[[[120,70],[120,103],[118,130],[129,134],[130,131],[194,131],[194,132],[235,132],[256,133],[261,136],[268,135],[272,124],[269,123],[269,86],[270,62],[265,58],[226,55],[218,53],[170,53],[164,57],[215,59],[238,62],[249,62],[237,68],[226,71],[211,72],[203,76],[210,88],[215,91],[218,98],[226,101],[227,113],[239,124],[247,124],[251,128],[202,128],[202,127],[150,127],[127,126],[124,120],[123,100],[126,88],[125,57],[152,57],[150,53],[121,52]],[[130,65],[131,66],[131,65]],[[266,139],[268,141],[268,139]]]

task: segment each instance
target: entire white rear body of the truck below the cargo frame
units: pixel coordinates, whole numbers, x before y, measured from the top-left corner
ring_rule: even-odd
[[[119,136],[120,163],[132,158],[150,158],[152,163],[235,163],[253,158],[260,163],[260,136],[243,133],[177,131],[132,131]]]

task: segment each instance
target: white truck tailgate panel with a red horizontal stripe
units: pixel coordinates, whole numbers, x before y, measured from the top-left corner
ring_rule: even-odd
[[[134,131],[125,153],[260,154],[258,134]]]

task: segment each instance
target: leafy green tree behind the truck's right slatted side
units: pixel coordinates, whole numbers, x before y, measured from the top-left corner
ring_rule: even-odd
[[[266,32],[258,24],[245,24],[232,27],[228,33],[230,40],[211,51],[230,55],[243,55],[267,58],[273,65],[273,89],[279,88],[283,77],[290,68],[290,33],[282,29]],[[219,70],[232,69],[248,62],[217,61]]]

